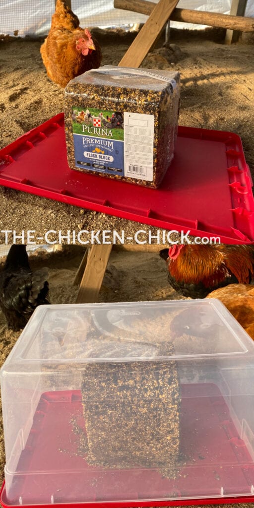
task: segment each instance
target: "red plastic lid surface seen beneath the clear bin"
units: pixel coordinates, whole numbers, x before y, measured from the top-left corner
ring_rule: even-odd
[[[73,506],[76,501],[78,506],[90,507],[254,502],[254,495],[250,495],[253,461],[218,388],[213,384],[182,385],[181,393],[183,460],[176,480],[163,478],[155,469],[88,466],[72,425],[75,419],[85,430],[80,391],[44,393],[8,500],[5,490],[2,492],[3,506],[19,505],[19,499],[24,506],[48,506],[51,496],[57,506]],[[48,474],[40,474],[45,471]],[[171,499],[165,500],[169,492]]]

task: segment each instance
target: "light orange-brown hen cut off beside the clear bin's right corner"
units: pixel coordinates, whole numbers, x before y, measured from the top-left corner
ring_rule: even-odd
[[[254,340],[254,285],[230,284],[212,291],[206,298],[218,298]]]

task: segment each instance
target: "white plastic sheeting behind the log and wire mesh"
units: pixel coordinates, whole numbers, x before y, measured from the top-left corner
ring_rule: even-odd
[[[158,0],[153,0],[157,2]],[[229,14],[232,0],[180,0],[178,7]],[[142,23],[147,16],[114,9],[113,0],[72,0],[72,9],[81,26],[124,26]],[[54,0],[0,0],[0,34],[24,37],[43,36],[48,33]],[[254,0],[248,0],[246,16],[254,17]],[[171,22],[177,28],[204,28],[203,25]]]

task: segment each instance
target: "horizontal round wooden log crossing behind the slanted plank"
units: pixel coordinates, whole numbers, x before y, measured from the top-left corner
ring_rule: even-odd
[[[154,2],[147,2],[147,0],[114,0],[114,7],[116,9],[138,12],[139,14],[145,14],[146,16],[150,16],[156,5],[157,4]],[[215,12],[176,8],[170,15],[170,20],[216,26],[218,28],[230,28],[232,30],[240,30],[243,32],[254,31],[254,18],[231,16],[229,14],[218,14]]]

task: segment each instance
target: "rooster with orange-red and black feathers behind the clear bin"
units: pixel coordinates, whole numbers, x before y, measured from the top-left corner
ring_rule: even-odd
[[[190,298],[205,298],[228,284],[249,284],[254,277],[252,245],[174,245],[160,256],[170,285]]]

